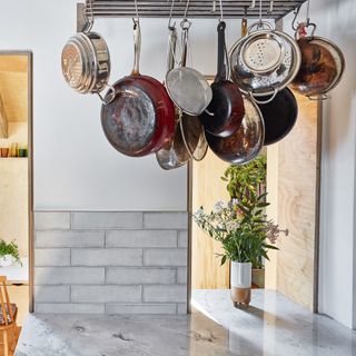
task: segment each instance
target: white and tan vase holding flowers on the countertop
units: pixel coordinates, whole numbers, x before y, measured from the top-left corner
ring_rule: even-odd
[[[231,261],[230,264],[230,288],[234,305],[248,306],[251,300],[251,274],[250,263]]]

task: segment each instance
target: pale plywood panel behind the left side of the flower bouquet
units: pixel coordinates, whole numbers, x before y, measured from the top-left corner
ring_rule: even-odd
[[[192,165],[192,211],[200,206],[210,211],[217,200],[229,200],[226,182],[220,177],[228,164],[217,158],[210,150],[201,162]],[[191,288],[229,288],[229,266],[220,266],[216,254],[220,244],[201,231],[195,222],[191,229]]]

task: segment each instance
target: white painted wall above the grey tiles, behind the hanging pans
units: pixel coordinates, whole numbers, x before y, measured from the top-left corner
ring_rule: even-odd
[[[76,2],[0,2],[0,49],[33,51],[36,209],[185,210],[186,169],[167,172],[154,156],[118,154],[102,134],[98,98],[81,96],[63,81],[60,53],[76,30]],[[239,22],[234,26],[238,34]],[[95,24],[111,51],[112,81],[131,70],[131,19]],[[141,30],[141,72],[162,80],[167,20],[142,20]],[[214,73],[216,21],[196,21],[191,39],[197,68]]]

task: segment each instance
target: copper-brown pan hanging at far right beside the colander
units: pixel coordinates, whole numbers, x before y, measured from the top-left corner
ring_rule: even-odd
[[[305,36],[305,28],[313,27],[312,36]],[[304,33],[297,43],[301,52],[301,65],[291,88],[310,99],[326,99],[327,92],[342,79],[345,58],[332,41],[314,36],[315,23],[299,23],[297,33]]]

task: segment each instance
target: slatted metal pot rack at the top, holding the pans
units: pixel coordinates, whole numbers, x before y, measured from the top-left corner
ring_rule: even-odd
[[[86,12],[90,16],[89,1],[77,4],[78,28],[83,24]],[[176,0],[174,18],[182,18],[187,0]],[[284,18],[306,0],[263,0],[263,17],[275,19]],[[138,0],[138,9],[141,18],[169,18],[171,1],[169,0]],[[271,9],[273,2],[273,11]],[[136,17],[135,0],[91,0],[95,18],[130,18]],[[222,0],[224,18],[258,18],[259,0]],[[219,18],[219,0],[190,0],[188,18]]]

